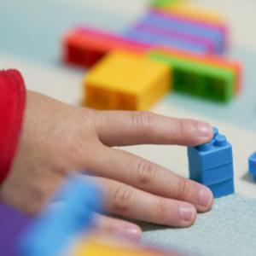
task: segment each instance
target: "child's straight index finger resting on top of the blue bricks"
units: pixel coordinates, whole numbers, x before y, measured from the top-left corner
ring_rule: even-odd
[[[150,112],[96,111],[98,136],[108,146],[178,144],[195,146],[212,138],[212,126]]]

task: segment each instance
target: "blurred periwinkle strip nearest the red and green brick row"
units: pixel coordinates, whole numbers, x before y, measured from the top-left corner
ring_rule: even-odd
[[[123,36],[127,39],[134,40],[143,44],[156,44],[165,47],[189,50],[199,54],[206,54],[208,52],[208,49],[205,45],[188,42],[181,38],[166,37],[165,35],[143,31],[142,29],[136,27],[124,32]]]

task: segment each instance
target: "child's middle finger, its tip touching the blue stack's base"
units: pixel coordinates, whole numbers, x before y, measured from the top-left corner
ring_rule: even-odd
[[[200,183],[180,177],[162,166],[123,150],[102,146],[101,151],[94,163],[95,175],[129,184],[154,195],[187,201],[198,212],[211,209],[212,192]]]

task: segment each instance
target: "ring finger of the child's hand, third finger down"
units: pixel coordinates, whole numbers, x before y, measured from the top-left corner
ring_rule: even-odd
[[[187,227],[195,222],[196,209],[188,202],[152,195],[104,177],[97,177],[96,183],[102,188],[108,212],[172,227]]]

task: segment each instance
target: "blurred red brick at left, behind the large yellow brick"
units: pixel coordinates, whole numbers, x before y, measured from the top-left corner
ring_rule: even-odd
[[[91,67],[112,49],[125,49],[144,52],[147,44],[119,37],[117,35],[78,27],[67,34],[63,40],[63,60],[82,67]]]

